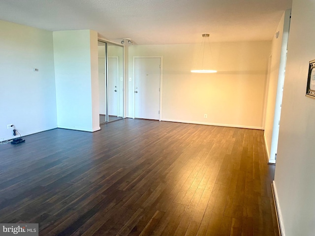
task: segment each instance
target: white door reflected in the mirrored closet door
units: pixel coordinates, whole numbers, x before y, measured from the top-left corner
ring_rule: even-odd
[[[108,115],[118,116],[118,58],[108,57]]]

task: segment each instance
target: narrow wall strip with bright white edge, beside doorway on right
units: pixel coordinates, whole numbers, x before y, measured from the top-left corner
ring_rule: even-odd
[[[288,9],[284,12],[279,25],[275,31],[279,37],[274,37],[271,45],[271,66],[268,71],[268,99],[266,107],[264,138],[268,159],[275,163],[275,155],[278,145],[280,105],[282,100],[282,88],[284,83],[285,59],[287,49],[287,38],[289,33],[290,13]],[[277,102],[276,102],[277,101]]]

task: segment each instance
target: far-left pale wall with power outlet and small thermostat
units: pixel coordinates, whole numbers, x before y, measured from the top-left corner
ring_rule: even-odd
[[[53,33],[0,21],[0,52],[0,141],[56,128]]]

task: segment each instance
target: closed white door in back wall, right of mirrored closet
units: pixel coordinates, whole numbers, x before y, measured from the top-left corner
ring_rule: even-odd
[[[134,116],[159,119],[160,58],[134,59]]]

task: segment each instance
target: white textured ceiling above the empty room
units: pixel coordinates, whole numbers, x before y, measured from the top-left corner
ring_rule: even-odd
[[[0,0],[0,20],[135,44],[271,40],[292,0]]]

